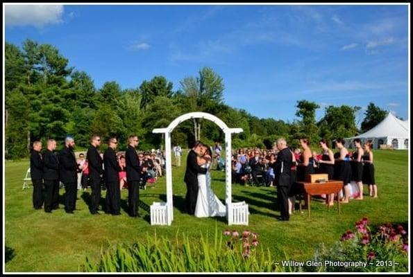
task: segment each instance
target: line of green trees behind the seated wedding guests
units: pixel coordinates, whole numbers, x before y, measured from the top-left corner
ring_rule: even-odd
[[[172,82],[159,75],[133,89],[121,89],[114,80],[98,89],[90,75],[69,67],[67,57],[50,44],[26,39],[19,47],[6,42],[5,57],[6,159],[27,157],[35,140],[62,141],[67,135],[74,136],[76,145],[82,147],[87,147],[92,134],[103,139],[117,136],[119,146],[125,148],[129,134],[137,134],[140,148],[162,148],[162,134],[152,130],[167,127],[174,118],[191,111],[214,114],[229,127],[244,129],[234,135],[233,148],[271,148],[279,136],[292,146],[297,146],[300,136],[308,136],[313,143],[321,137],[354,136],[376,125],[387,113],[370,103],[359,130],[355,114],[360,107],[329,106],[317,121],[319,105],[298,100],[299,119],[285,122],[258,118],[226,105],[224,80],[210,67],[183,78],[176,91]],[[208,132],[202,132],[205,129]],[[172,133],[172,143],[183,147],[196,139],[213,144],[224,141],[224,134],[214,123],[201,119],[187,120]]]

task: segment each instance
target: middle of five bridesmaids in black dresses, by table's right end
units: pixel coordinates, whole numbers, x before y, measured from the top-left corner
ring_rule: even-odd
[[[335,159],[335,165],[339,166],[338,179],[343,181],[344,186],[344,198],[342,203],[348,203],[351,194],[350,179],[351,179],[351,166],[350,158],[348,157],[348,150],[344,147],[344,139],[336,139],[335,146],[339,149],[339,157]]]

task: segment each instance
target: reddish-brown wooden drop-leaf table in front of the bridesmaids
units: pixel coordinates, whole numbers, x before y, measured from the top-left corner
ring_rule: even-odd
[[[330,181],[326,181],[326,183],[297,182],[297,185],[301,188],[301,191],[303,193],[307,194],[308,217],[310,218],[311,217],[311,196],[312,195],[330,195],[331,193],[339,193],[339,191],[343,188],[343,181],[330,180]],[[337,195],[337,206],[338,206],[338,211],[340,214],[340,197],[338,195]],[[328,208],[330,208],[330,206],[328,206]],[[300,199],[300,212],[301,212],[301,199]]]

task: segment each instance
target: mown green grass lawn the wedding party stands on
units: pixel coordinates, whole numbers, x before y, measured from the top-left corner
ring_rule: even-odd
[[[405,150],[376,150],[375,166],[378,184],[378,199],[366,196],[364,201],[352,201],[342,205],[342,214],[337,206],[326,206],[312,201],[312,217],[296,211],[289,222],[279,222],[280,215],[276,188],[245,187],[233,185],[233,202],[249,204],[249,226],[230,226],[242,231],[248,229],[259,234],[259,241],[271,250],[276,259],[284,258],[283,251],[294,260],[312,258],[314,247],[324,242],[332,244],[339,240],[347,229],[362,217],[368,217],[371,226],[408,221],[408,162]],[[186,157],[183,157],[185,161]],[[185,164],[185,163],[183,163]],[[60,189],[60,209],[53,213],[35,211],[32,207],[32,188],[22,190],[22,179],[28,161],[6,161],[6,271],[78,271],[85,256],[97,260],[101,247],[108,243],[139,242],[145,233],[154,233],[175,238],[176,232],[188,233],[194,242],[200,232],[208,231],[212,237],[215,226],[221,231],[228,228],[226,220],[217,218],[199,219],[183,213],[185,166],[173,168],[174,222],[171,226],[151,226],[149,206],[154,201],[166,200],[165,177],[154,188],[140,190],[141,218],[130,218],[126,213],[127,190],[121,193],[122,215],[90,215],[87,208],[90,188],[78,191],[74,215],[63,209],[63,189]],[[218,197],[225,198],[224,172],[212,171],[212,188]],[[102,193],[103,197],[106,192]]]

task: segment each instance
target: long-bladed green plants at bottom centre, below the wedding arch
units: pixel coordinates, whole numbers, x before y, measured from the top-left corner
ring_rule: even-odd
[[[224,235],[228,235],[226,231]],[[190,241],[185,233],[182,240],[158,238],[146,234],[145,243],[131,246],[118,244],[101,250],[100,261],[92,264],[86,258],[83,271],[87,272],[253,272],[294,271],[276,265],[267,249],[258,247],[258,235],[248,232],[243,235],[233,231],[228,240],[218,235],[217,229],[212,243],[201,233],[199,242]]]

